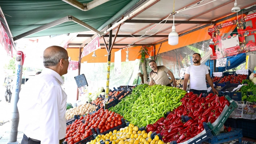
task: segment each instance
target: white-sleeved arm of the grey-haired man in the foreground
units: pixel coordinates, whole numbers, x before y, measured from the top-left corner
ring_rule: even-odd
[[[41,144],[59,144],[59,87],[49,88],[42,96],[40,110]]]

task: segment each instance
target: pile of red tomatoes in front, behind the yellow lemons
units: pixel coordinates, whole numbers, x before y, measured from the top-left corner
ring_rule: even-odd
[[[96,129],[99,128],[102,133],[120,126],[123,124],[122,118],[123,116],[120,114],[101,108],[97,112],[80,117],[79,120],[76,119],[72,124],[68,125],[65,141],[68,141],[68,144],[74,144],[93,135],[91,129],[96,132]],[[85,123],[82,122],[83,120],[85,120]]]

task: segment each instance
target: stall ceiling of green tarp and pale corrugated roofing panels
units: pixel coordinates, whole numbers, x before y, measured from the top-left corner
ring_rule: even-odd
[[[69,2],[72,2],[72,0],[1,0],[0,6],[14,40],[19,39],[19,37],[15,38],[18,35],[66,17],[66,20],[60,25],[54,25],[53,27],[42,31],[38,30],[37,33],[30,34],[28,37],[79,32],[78,35],[70,35],[72,37],[67,43],[68,47],[79,48],[80,45],[89,42],[96,34],[96,32],[91,31],[92,29],[101,29],[104,23],[106,24],[109,19],[113,19],[114,15],[118,12],[120,13],[125,6],[131,4],[135,0],[103,0],[102,3],[95,8],[88,7],[91,0],[78,1],[84,3],[84,7],[80,5],[80,8],[77,8],[77,6],[70,5]],[[223,21],[225,20],[223,17],[229,15],[230,17],[234,17],[236,15],[235,13],[231,13],[231,8],[234,6],[235,0],[216,0],[209,3],[210,1],[213,0],[175,1],[175,11],[201,2],[196,5],[200,6],[198,8],[175,14],[176,32],[178,32],[180,36],[213,25],[219,21]],[[149,2],[152,3],[141,9],[142,6]],[[255,0],[237,0],[237,3],[241,8],[241,11],[238,14],[256,9]],[[245,9],[250,6],[252,6],[252,8]],[[122,15],[126,17],[136,10],[136,14],[133,14],[121,23],[113,48],[124,48],[128,44],[133,43],[133,45],[150,46],[167,41],[168,34],[171,32],[172,27],[173,17],[168,16],[173,10],[173,0],[140,0],[138,3],[130,6],[130,8],[123,12]],[[158,24],[167,17],[167,21]],[[229,17],[226,17],[226,19],[228,18]],[[74,19],[76,21],[74,21]],[[111,24],[115,25],[120,19],[121,16],[115,17]],[[91,26],[91,30],[86,28],[83,25],[84,23]],[[149,31],[152,27],[154,27],[154,29]],[[108,28],[109,27],[103,27],[101,31],[106,31]],[[111,36],[114,37],[117,30],[117,27],[115,27]],[[145,34],[147,31],[149,32],[145,37],[141,37],[138,40],[138,37]],[[106,34],[107,35],[105,35],[104,38],[108,41],[108,32]],[[22,36],[20,38],[22,38]],[[114,39],[112,39],[112,43],[113,41]],[[100,43],[101,47],[105,48],[102,38],[100,39]]]

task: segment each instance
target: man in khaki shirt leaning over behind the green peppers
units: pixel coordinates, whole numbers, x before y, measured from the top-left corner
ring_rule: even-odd
[[[149,62],[149,66],[152,69],[152,71],[149,73],[150,86],[154,84],[154,81],[155,81],[155,84],[171,86],[170,80],[168,79],[168,76],[167,76],[167,74],[169,74],[171,76],[171,79],[174,80],[173,81],[174,87],[176,87],[176,81],[175,81],[174,75],[165,66],[157,66],[157,63],[153,60]]]

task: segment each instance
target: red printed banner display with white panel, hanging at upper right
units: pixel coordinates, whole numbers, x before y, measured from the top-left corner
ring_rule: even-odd
[[[252,22],[252,27],[248,26],[244,29],[244,22]],[[221,38],[220,29],[228,26],[234,26],[238,30],[238,35],[233,34],[227,38]],[[213,28],[208,29],[208,34],[212,37],[212,33],[216,33],[216,37],[213,37],[214,45],[218,45],[219,49],[214,49],[214,45],[210,45],[213,50],[213,54],[210,55],[211,60],[216,60],[218,58],[233,56],[239,53],[256,51],[256,13],[241,16],[238,20],[232,20],[228,22],[216,25]],[[254,35],[254,42],[250,40],[246,43],[246,37]]]

